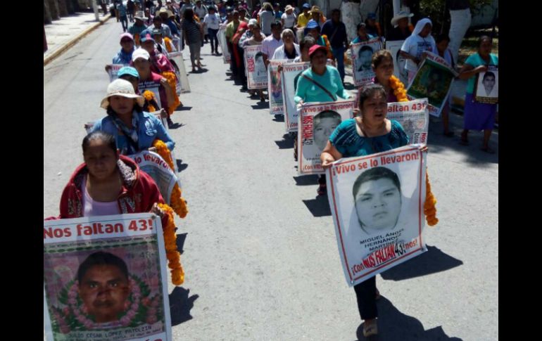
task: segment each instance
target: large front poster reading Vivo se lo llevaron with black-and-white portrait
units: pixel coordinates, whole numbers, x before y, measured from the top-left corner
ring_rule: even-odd
[[[425,246],[427,153],[422,145],[337,160],[327,169],[344,276],[353,286],[406,262]]]

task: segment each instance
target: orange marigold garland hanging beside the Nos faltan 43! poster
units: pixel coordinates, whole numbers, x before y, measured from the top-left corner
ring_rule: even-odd
[[[175,285],[184,283],[184,271],[181,265],[181,254],[177,251],[177,235],[175,234],[175,221],[173,209],[167,204],[158,204],[168,217],[168,223],[162,226],[165,244],[165,256],[168,258],[168,267],[171,272],[171,282]]]

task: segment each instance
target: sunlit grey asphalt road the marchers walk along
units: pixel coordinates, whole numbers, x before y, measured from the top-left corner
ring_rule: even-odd
[[[44,67],[44,216],[82,161],[82,125],[105,115],[120,31],[109,20]],[[327,198],[297,176],[284,122],[227,80],[208,45],[202,56],[208,71],[189,75],[172,117],[190,210],[176,221],[186,281],[170,287],[174,339],[356,340]],[[461,117],[452,124],[457,135]],[[379,340],[498,339],[498,156],[478,150],[479,133],[464,147],[440,131],[431,123],[428,163],[441,222],[429,252],[378,276]]]

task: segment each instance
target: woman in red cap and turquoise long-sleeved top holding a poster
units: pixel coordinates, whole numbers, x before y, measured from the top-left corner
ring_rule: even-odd
[[[311,67],[301,74],[297,82],[297,91],[294,100],[298,105],[305,102],[329,102],[339,98],[350,98],[344,89],[341,75],[336,67],[327,65],[327,49],[324,46],[314,45],[309,50]],[[318,178],[318,195],[327,193],[326,178]]]

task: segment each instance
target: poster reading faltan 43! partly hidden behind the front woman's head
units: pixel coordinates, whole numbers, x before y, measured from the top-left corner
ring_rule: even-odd
[[[408,136],[408,144],[427,144],[429,108],[427,98],[388,103],[388,120],[396,120]]]

